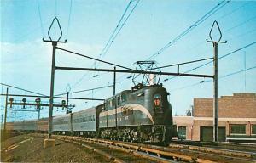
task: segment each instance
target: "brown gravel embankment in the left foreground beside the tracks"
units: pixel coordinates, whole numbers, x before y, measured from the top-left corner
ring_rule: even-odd
[[[18,144],[27,136],[9,138],[4,143],[8,147]],[[55,147],[43,148],[44,138],[30,138],[24,143],[18,144],[15,149],[1,151],[1,162],[110,162],[101,155],[84,149],[73,143],[64,143],[56,140]]]

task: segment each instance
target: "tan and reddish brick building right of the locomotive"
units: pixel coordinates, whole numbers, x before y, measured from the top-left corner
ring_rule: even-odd
[[[213,99],[195,98],[193,116],[174,116],[179,138],[213,139]],[[256,142],[256,93],[234,93],[218,98],[218,140]]]

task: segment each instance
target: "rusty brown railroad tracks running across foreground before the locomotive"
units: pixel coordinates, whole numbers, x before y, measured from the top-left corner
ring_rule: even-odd
[[[53,138],[58,138],[63,141],[77,143],[79,145],[87,145],[89,149],[103,151],[105,155],[114,162],[125,162],[113,155],[108,154],[109,149],[125,152],[126,155],[136,155],[147,158],[155,162],[227,162],[227,163],[256,163],[256,153],[244,152],[228,149],[214,149],[207,147],[195,147],[189,145],[170,144],[168,147],[148,145],[142,143],[119,142],[97,138],[82,138],[71,136],[55,135]],[[101,147],[104,147],[101,149]],[[129,160],[129,158],[127,159]]]

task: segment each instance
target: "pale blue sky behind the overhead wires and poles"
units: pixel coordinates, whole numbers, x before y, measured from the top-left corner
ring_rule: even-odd
[[[212,58],[212,43],[206,42],[206,39],[209,39],[213,21],[217,20],[222,41],[227,41],[218,44],[218,57],[229,54],[218,59],[218,97],[233,93],[256,93],[256,1],[134,0],[129,3],[128,0],[2,0],[1,83],[49,95],[52,46],[49,42],[43,42],[42,38],[49,39],[47,32],[55,17],[61,24],[61,41],[67,39],[58,47],[132,69],[136,68],[137,61],[147,60],[152,55],[154,57],[150,59],[156,61],[156,66]],[[212,8],[218,3],[221,3],[221,7],[211,14]],[[123,19],[127,20],[119,25],[120,31],[108,51],[100,55],[125,8],[127,11]],[[201,20],[207,13],[210,15]],[[215,26],[212,30],[215,40],[219,37],[216,29]],[[188,32],[182,35],[185,31]],[[55,23],[50,34],[53,39],[60,34]],[[208,61],[181,65],[180,71],[192,70]],[[95,68],[93,60],[61,50],[56,51],[55,63],[58,66]],[[113,69],[113,65],[97,63],[96,68]],[[177,66],[162,71],[177,72]],[[189,73],[212,75],[213,65],[211,63]],[[133,86],[128,76],[132,75],[117,73],[117,93]],[[70,92],[75,92],[109,86],[112,82],[113,73],[56,70],[55,94],[66,93],[68,87]],[[191,109],[194,98],[213,96],[212,79],[161,76],[160,82],[170,93],[168,99],[173,115],[185,115],[186,110]],[[7,87],[1,87],[1,93],[5,93]],[[32,94],[11,87],[9,93]],[[113,88],[107,87],[73,93],[71,97],[108,98],[112,95]],[[15,100],[21,99],[15,97]],[[27,100],[34,101],[35,98]],[[46,103],[47,99],[42,101]],[[60,103],[61,100],[56,99],[55,102]],[[69,104],[75,104],[73,111],[78,111],[101,102],[70,100]],[[4,105],[5,98],[1,96],[1,115]],[[8,121],[14,121],[14,113],[9,111]],[[54,115],[63,114],[65,111],[55,108]],[[48,108],[43,108],[41,117],[48,115]],[[17,121],[37,117],[35,112],[16,113]]]

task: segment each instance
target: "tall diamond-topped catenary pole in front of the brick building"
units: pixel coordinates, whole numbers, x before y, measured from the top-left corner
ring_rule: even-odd
[[[212,39],[212,29],[213,26],[217,25],[218,27],[218,32],[219,32],[219,38],[218,41],[213,41]],[[211,31],[209,33],[209,37],[211,38],[211,41],[207,42],[212,42],[213,44],[213,141],[218,142],[218,43],[221,40],[222,33],[219,29],[218,22],[215,20],[212,24]],[[220,42],[220,43],[226,43],[225,42]]]

